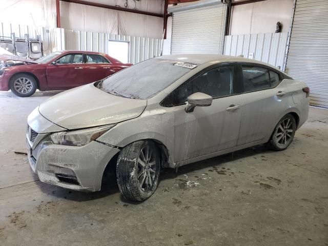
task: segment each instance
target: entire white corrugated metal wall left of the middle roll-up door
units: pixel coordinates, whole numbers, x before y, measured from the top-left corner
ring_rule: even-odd
[[[160,55],[161,39],[136,36],[125,36],[108,33],[72,31],[64,28],[46,29],[32,26],[12,25],[0,23],[0,36],[10,37],[15,33],[16,37],[29,34],[30,38],[41,35],[44,54],[57,50],[87,50],[108,53],[108,41],[129,42],[129,62],[136,64],[142,60]]]

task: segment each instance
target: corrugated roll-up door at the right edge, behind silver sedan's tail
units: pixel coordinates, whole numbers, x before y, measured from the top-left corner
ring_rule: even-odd
[[[328,108],[328,0],[297,0],[286,73],[310,87],[310,104]]]

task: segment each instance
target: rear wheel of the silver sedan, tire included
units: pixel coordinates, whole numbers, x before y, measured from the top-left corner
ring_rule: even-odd
[[[270,147],[274,150],[284,150],[293,141],[296,131],[296,120],[291,114],[286,114],[277,124],[271,139]]]

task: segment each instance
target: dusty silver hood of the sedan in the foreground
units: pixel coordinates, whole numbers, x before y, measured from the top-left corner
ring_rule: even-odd
[[[39,112],[66,129],[96,127],[138,117],[147,100],[111,95],[93,84],[59,93],[39,106]]]

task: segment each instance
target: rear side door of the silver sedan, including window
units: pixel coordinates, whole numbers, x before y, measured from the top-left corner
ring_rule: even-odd
[[[288,106],[288,92],[278,71],[256,64],[240,64],[242,116],[238,146],[263,139]]]

